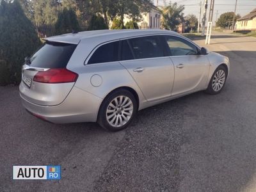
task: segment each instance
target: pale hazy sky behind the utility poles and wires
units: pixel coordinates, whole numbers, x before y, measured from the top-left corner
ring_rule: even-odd
[[[156,4],[157,0],[154,0],[154,4]],[[158,0],[159,5],[164,5],[164,1],[168,4],[169,0]],[[202,13],[204,12],[204,1],[205,0],[172,0],[172,3],[177,2],[178,4],[184,4],[185,10],[184,15],[194,14],[196,17],[199,15],[200,10],[200,1],[202,1]],[[207,10],[207,18],[209,17],[209,7],[211,0],[208,0],[208,10]],[[225,12],[234,12],[235,10],[236,0],[215,0],[214,3],[214,13],[212,21],[216,20],[216,13],[218,10],[217,17],[220,17],[221,13]],[[248,13],[250,13],[253,9],[256,8],[256,0],[237,0],[237,11],[242,17]],[[201,17],[202,18],[202,17]]]

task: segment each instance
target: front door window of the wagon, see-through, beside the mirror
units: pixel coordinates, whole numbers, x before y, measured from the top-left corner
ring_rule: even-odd
[[[196,55],[198,49],[187,40],[176,36],[165,36],[170,56]]]

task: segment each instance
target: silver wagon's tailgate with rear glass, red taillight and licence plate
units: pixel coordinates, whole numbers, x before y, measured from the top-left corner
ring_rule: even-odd
[[[76,44],[46,42],[22,67],[20,95],[44,106],[58,105],[74,86],[77,74],[67,70]]]

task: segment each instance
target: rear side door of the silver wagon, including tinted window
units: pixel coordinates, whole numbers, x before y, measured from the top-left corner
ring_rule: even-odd
[[[170,97],[174,81],[172,60],[159,36],[122,40],[122,61],[148,101]]]

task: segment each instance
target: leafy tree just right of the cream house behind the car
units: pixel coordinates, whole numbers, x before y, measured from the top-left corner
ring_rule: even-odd
[[[170,3],[168,6],[163,8],[163,19],[162,26],[165,29],[174,31],[177,29],[179,24],[184,21],[184,5],[178,5],[177,3]]]

